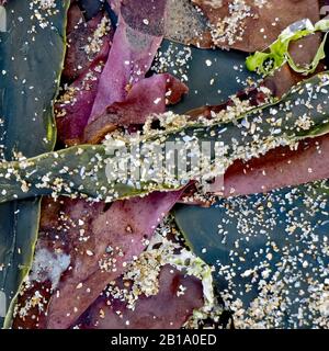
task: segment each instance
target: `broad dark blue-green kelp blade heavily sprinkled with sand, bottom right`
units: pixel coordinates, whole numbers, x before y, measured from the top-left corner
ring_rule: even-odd
[[[328,327],[328,181],[174,215],[191,249],[215,267],[237,327]]]

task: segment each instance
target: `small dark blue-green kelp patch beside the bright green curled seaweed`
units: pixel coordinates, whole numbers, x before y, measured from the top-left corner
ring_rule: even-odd
[[[157,71],[168,71],[188,84],[189,93],[170,107],[184,113],[224,103],[246,89],[249,79],[254,81],[258,76],[245,67],[246,58],[247,54],[237,50],[200,49],[164,39],[154,66]]]

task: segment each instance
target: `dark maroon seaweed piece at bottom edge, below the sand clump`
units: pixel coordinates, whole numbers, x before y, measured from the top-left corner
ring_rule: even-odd
[[[122,285],[122,278],[116,285]],[[179,287],[184,286],[184,294]],[[194,276],[184,275],[171,265],[164,265],[159,274],[159,293],[139,296],[135,309],[104,293],[81,316],[79,329],[179,329],[202,307],[202,283]]]

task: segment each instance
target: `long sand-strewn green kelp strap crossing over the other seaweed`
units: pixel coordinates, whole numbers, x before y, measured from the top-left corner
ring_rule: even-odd
[[[225,167],[237,159],[257,157],[279,145],[294,145],[303,138],[327,133],[329,104],[326,87],[328,83],[328,73],[320,73],[294,87],[281,101],[239,116],[235,115],[234,120],[223,122],[223,115],[220,115],[220,118],[209,126],[192,122],[181,128],[148,132],[143,141],[138,140],[138,147],[155,149],[155,154],[151,154],[154,159],[149,157],[144,161],[143,157],[139,158],[141,165],[154,162],[156,158],[161,157],[164,158],[163,163],[166,163],[166,147],[169,143],[181,141],[180,152],[185,150],[186,154],[192,147],[189,140],[196,140],[198,150],[206,143],[209,152],[205,157],[209,157],[209,165],[204,168],[194,167],[186,172],[185,177],[181,177],[178,172],[167,177],[166,167],[157,170],[159,173],[164,173],[164,177],[155,181],[141,178],[133,181],[127,177],[123,182],[116,171],[109,177],[106,172],[109,165],[112,172],[115,170],[113,166],[124,157],[128,161],[128,158],[134,155],[129,152],[131,147],[134,146],[132,137],[121,137],[109,139],[104,145],[76,146],[20,162],[0,163],[2,189],[0,203],[52,193],[55,195],[83,194],[92,199],[115,201],[156,190],[177,189],[182,185],[182,180],[183,184],[197,177],[203,177],[204,180],[209,168],[214,168],[211,177],[219,176],[216,172],[223,173]],[[230,111],[229,109],[228,112]],[[121,155],[120,158],[107,152],[109,149],[112,151],[116,149],[117,141],[123,143],[127,150],[126,155]],[[160,147],[160,151],[157,147]],[[180,157],[182,157],[181,154]],[[219,163],[223,167],[217,169]],[[148,176],[148,171],[145,174]]]

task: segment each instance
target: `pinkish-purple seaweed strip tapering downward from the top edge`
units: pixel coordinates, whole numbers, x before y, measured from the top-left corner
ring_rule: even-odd
[[[154,25],[155,21],[150,14],[157,13],[157,19],[163,19],[166,1],[143,0],[141,2],[139,0],[128,0],[123,1],[121,5],[118,26],[100,79],[90,122],[102,114],[107,105],[126,99],[131,88],[141,80],[149,70],[162,42],[163,34],[159,30],[159,25]],[[139,11],[134,10],[136,8],[144,9],[144,21]],[[144,11],[141,11],[141,14]],[[134,15],[136,15],[136,20]],[[127,19],[129,23],[127,23]],[[141,24],[139,25],[144,25],[144,31],[137,25],[140,21]]]

